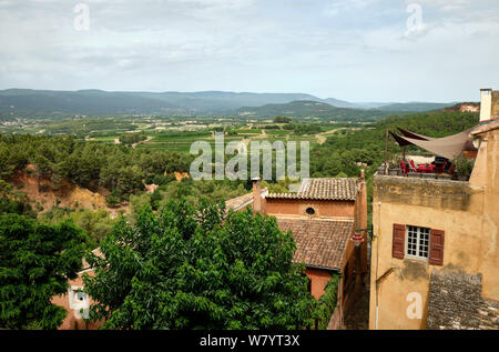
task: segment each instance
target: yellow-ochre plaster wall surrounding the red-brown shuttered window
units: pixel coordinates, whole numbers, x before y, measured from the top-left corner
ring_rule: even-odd
[[[499,301],[499,130],[482,135],[469,182],[376,177],[373,200],[369,329],[425,329],[434,269],[482,274],[482,296]],[[394,223],[445,231],[444,265],[393,258]],[[376,281],[385,273],[376,290]],[[410,319],[409,293],[421,296]]]

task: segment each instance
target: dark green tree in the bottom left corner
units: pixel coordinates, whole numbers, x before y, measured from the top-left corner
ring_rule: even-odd
[[[0,326],[57,329],[65,318],[51,303],[77,278],[86,238],[70,222],[38,224],[18,214],[0,215]]]

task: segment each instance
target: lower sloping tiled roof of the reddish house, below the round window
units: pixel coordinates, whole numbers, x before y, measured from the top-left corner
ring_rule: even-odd
[[[296,242],[294,262],[340,270],[354,221],[277,218],[282,231],[292,231]]]

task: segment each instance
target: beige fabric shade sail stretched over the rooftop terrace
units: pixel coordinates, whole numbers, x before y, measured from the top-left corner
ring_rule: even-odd
[[[429,138],[429,140],[425,140],[425,138],[427,138],[425,135],[416,134],[409,131],[404,132],[408,132],[408,134],[413,134],[417,138],[409,138],[406,135],[401,137],[391,132],[390,134],[394,137],[394,139],[400,147],[414,144],[425,150],[428,150],[437,155],[452,160],[457,155],[459,155],[462,151],[470,150],[470,148],[475,149],[475,147],[472,147],[472,139],[469,135],[470,131],[471,129],[444,138]]]

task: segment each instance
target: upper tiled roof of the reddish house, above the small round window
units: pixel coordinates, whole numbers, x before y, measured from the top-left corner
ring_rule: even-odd
[[[355,201],[358,179],[304,179],[297,193],[271,193],[269,199],[314,199]]]

